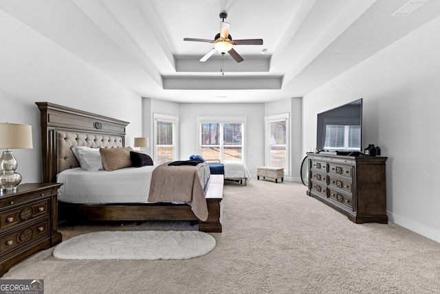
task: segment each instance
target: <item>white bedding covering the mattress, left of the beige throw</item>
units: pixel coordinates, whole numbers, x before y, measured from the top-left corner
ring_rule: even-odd
[[[66,169],[56,176],[57,182],[64,183],[58,189],[58,200],[83,204],[146,203],[155,167],[126,167],[115,171]]]

